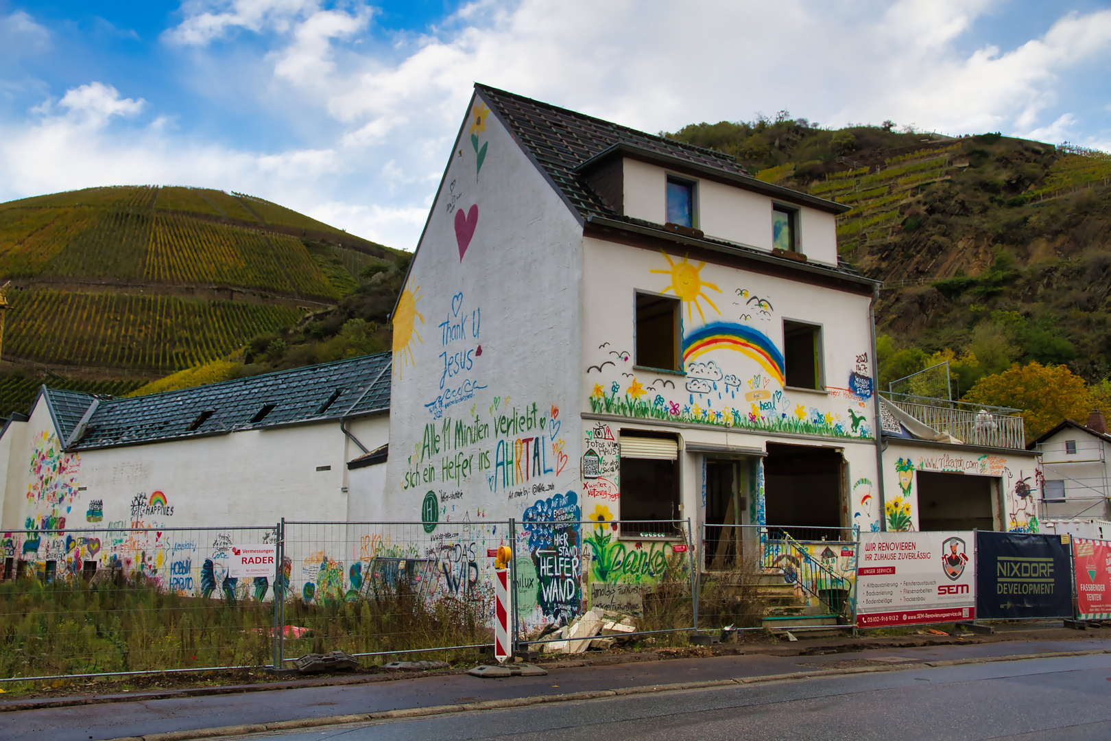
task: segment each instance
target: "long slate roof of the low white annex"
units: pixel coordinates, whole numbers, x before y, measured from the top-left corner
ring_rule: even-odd
[[[382,352],[131,399],[46,387],[40,395],[63,440],[98,401],[84,432],[68,448],[88,450],[387,411],[391,370],[391,353]]]

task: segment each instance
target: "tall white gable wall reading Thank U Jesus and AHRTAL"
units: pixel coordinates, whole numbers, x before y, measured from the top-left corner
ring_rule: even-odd
[[[509,537],[493,523],[516,519],[526,624],[581,607],[581,246],[569,208],[473,99],[394,312],[374,519],[424,523],[413,548],[447,594],[484,588],[487,551]]]

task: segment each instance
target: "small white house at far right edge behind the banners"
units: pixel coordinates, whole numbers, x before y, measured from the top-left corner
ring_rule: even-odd
[[[1050,532],[1111,538],[1111,434],[1099,411],[1063,420],[1029,445],[1041,457],[1040,509]]]

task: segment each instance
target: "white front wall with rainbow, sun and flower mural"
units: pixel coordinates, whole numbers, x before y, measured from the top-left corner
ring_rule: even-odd
[[[691,260],[683,267],[683,260],[682,253],[665,257],[627,244],[584,240],[581,411],[627,419],[605,421],[614,434],[620,428],[639,427],[674,432],[684,443],[758,450],[764,450],[768,441],[843,445],[853,502],[845,519],[870,529],[879,517],[874,509],[878,491],[872,491],[875,449],[868,383],[870,297],[723,264]],[[634,293],[674,296],[673,289],[668,290],[673,269],[694,271],[701,283],[697,301],[681,303],[684,348],[702,347],[697,344],[699,332],[714,329],[735,340],[705,346],[703,354],[687,360],[685,373],[639,368],[634,358]],[[822,324],[824,391],[784,389],[782,364],[761,362],[761,351],[773,349],[782,354],[784,316]],[[708,329],[708,324],[715,327]],[[743,350],[738,349],[741,346]],[[859,373],[855,383],[853,373]],[[591,424],[584,427],[580,455],[594,434]],[[682,465],[683,515],[694,522],[703,510],[700,460],[688,454]],[[589,492],[588,512],[605,505],[617,515],[617,491],[607,490],[604,482],[583,481],[583,488]]]

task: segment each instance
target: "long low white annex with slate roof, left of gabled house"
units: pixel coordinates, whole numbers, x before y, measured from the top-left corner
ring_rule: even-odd
[[[81,553],[73,530],[364,518],[386,480],[390,367],[380,353],[130,399],[43,387],[0,430],[6,578],[19,561],[139,568],[123,544]],[[157,540],[152,563],[173,545]]]

